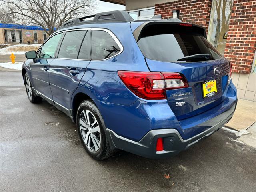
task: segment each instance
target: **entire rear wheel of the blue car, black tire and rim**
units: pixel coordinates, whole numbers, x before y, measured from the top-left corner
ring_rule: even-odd
[[[92,158],[103,160],[115,154],[116,150],[110,149],[106,138],[104,120],[92,101],[81,102],[76,114],[76,126],[84,149]]]

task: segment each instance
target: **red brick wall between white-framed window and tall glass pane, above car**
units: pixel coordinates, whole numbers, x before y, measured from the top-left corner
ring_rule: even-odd
[[[178,0],[156,4],[155,15],[161,14],[162,19],[172,18],[172,10],[180,11],[180,20],[206,27],[208,30],[212,0]]]

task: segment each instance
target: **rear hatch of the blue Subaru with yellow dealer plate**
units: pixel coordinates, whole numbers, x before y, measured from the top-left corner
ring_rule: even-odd
[[[166,90],[178,120],[220,104],[230,78],[230,62],[206,40],[204,28],[177,22],[146,22],[134,37],[152,72],[178,72],[188,88]]]

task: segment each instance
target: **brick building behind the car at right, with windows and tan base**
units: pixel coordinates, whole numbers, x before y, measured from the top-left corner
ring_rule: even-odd
[[[206,27],[207,39],[232,62],[238,98],[256,101],[256,0],[102,0],[126,6],[136,20],[161,14]]]

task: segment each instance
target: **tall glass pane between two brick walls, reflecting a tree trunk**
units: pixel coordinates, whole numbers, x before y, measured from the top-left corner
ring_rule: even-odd
[[[224,55],[233,0],[213,0],[208,40]]]

